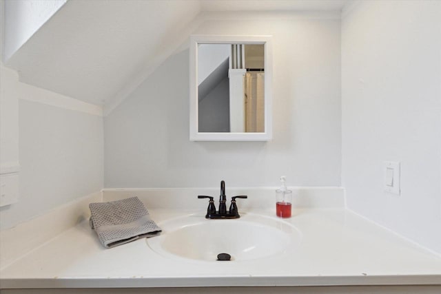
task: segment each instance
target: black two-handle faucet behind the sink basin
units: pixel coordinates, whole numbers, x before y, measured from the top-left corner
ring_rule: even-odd
[[[248,198],[246,195],[239,195],[232,197],[232,204],[229,207],[229,211],[227,212],[227,206],[225,202],[227,202],[227,196],[225,195],[225,182],[220,181],[220,197],[219,197],[219,210],[216,211],[216,207],[214,205],[214,198],[212,196],[199,195],[198,198],[209,198],[207,214],[205,218],[209,219],[231,219],[231,218],[240,218],[238,213],[236,198]]]

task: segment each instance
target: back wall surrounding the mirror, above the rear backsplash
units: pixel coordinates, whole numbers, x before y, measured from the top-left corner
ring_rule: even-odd
[[[223,14],[225,15],[225,14]],[[271,34],[270,142],[189,141],[189,52],[170,56],[105,117],[105,187],[339,186],[340,19],[231,14],[196,34]],[[225,19],[225,20],[222,20]],[[238,20],[246,19],[246,20]]]

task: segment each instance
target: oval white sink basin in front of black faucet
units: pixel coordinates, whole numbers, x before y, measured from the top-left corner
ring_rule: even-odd
[[[300,233],[291,224],[256,214],[235,220],[187,216],[159,226],[163,233],[147,238],[147,244],[169,258],[214,262],[219,253],[228,253],[232,261],[253,260],[283,253],[300,243]]]

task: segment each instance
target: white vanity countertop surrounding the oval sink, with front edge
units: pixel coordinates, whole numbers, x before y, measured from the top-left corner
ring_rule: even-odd
[[[150,210],[160,227],[189,214],[205,211]],[[294,253],[230,262],[166,258],[145,238],[105,249],[83,221],[2,269],[1,288],[441,285],[440,256],[351,211],[297,209],[284,221],[301,233]]]

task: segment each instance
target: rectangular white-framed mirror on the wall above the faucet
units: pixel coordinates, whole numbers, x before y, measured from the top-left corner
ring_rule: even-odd
[[[190,140],[271,139],[271,36],[190,37]]]

